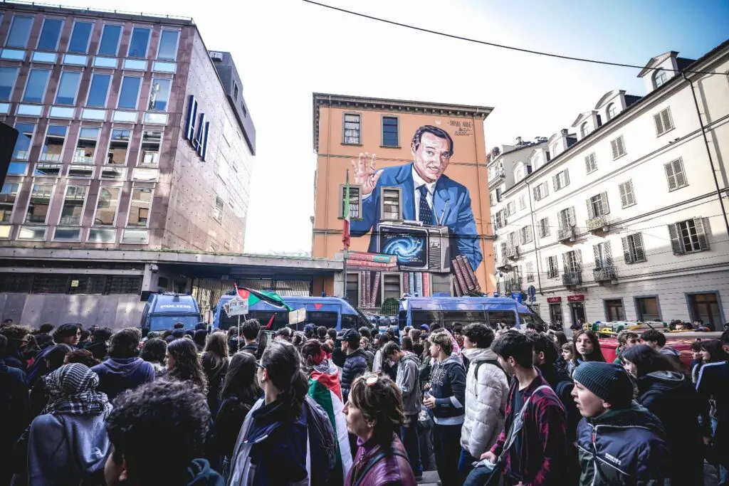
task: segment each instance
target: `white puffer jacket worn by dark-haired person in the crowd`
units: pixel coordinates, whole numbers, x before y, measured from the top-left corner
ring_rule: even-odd
[[[504,412],[509,399],[509,382],[502,369],[494,364],[496,353],[488,348],[462,350],[469,359],[466,376],[466,420],[461,430],[461,447],[475,458],[491,449],[504,428]]]

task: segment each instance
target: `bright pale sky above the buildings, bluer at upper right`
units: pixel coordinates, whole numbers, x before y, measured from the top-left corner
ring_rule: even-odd
[[[641,66],[668,50],[698,58],[729,32],[726,0],[321,2],[488,42]],[[257,130],[249,253],[311,250],[314,91],[492,106],[489,149],[570,128],[609,90],[645,94],[639,69],[446,39],[301,0],[61,3],[193,17],[209,50],[233,53]]]

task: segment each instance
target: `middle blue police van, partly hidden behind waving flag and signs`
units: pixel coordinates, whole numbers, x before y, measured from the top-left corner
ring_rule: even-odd
[[[218,305],[215,307],[214,328],[227,330],[238,325],[238,316],[228,317],[225,309],[223,309],[223,305],[232,298],[232,295],[220,297]],[[298,331],[302,330],[305,324],[313,324],[317,327],[324,326],[338,331],[341,329],[359,329],[362,326],[373,327],[359,310],[339,297],[281,297],[281,299],[292,310],[298,310],[302,307],[306,309],[305,321],[292,326]],[[273,324],[269,329],[273,331],[281,329],[289,324],[289,310],[281,309],[281,307],[270,305],[268,302],[261,300],[249,307],[247,315],[241,316],[241,320],[257,319],[262,326],[266,326],[271,318],[273,318]]]

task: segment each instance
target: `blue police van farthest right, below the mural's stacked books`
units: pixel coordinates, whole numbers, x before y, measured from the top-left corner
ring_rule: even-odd
[[[459,322],[464,326],[482,322],[496,327],[505,324],[523,329],[526,324],[544,324],[526,305],[508,297],[404,297],[400,300],[397,324],[419,327]]]

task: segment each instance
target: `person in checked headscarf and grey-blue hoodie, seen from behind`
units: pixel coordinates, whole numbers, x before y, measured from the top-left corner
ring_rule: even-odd
[[[104,431],[112,405],[97,391],[98,375],[83,364],[66,364],[43,378],[50,396],[31,423],[28,485],[72,485],[103,474],[109,452]],[[97,481],[98,481],[97,479]]]

